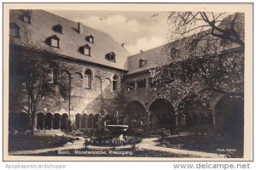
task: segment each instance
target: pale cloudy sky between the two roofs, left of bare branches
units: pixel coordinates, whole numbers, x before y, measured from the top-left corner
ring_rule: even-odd
[[[131,54],[159,47],[168,42],[166,17],[152,17],[150,11],[48,10],[68,20],[108,33],[117,42],[125,43]],[[167,14],[167,13],[166,13]],[[165,16],[165,14],[161,14]]]

